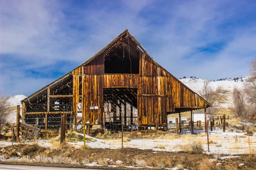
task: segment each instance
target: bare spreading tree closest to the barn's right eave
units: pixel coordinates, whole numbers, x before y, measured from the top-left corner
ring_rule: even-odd
[[[207,113],[215,113],[221,104],[227,101],[227,93],[228,91],[220,86],[216,89],[213,89],[210,86],[210,81],[204,80],[204,85],[201,91],[199,91],[199,94],[212,105],[211,108],[207,108]],[[211,119],[211,117],[209,119]]]

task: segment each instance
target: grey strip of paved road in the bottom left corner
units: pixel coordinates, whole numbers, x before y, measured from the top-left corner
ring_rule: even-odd
[[[92,170],[92,169],[81,169],[81,168],[78,169],[78,168],[67,168],[67,167],[39,167],[39,166],[0,164],[0,170]],[[98,169],[98,170],[100,170],[100,169]]]

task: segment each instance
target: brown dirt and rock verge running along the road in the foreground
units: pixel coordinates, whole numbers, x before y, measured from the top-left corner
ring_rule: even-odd
[[[125,166],[137,166],[137,160],[145,160],[147,166],[158,167],[161,169],[159,164],[164,164],[165,167],[183,167],[189,170],[254,170],[256,169],[256,156],[251,155],[239,155],[238,158],[224,159],[224,160],[212,160],[215,159],[214,155],[208,155],[206,153],[190,154],[185,152],[165,152],[165,151],[153,151],[153,150],[140,150],[135,148],[124,148],[124,149],[101,149],[101,148],[87,148],[76,149],[70,146],[64,146],[57,149],[45,148],[36,144],[17,144],[0,148],[0,155],[6,157],[15,156],[19,153],[18,157],[26,157],[29,159],[35,158],[37,155],[45,155],[48,157],[61,156],[63,158],[71,158],[77,162],[82,162],[84,159],[90,160],[90,162],[110,159],[101,166],[100,169],[131,169]],[[116,161],[122,161],[118,164],[119,167],[108,167],[108,165],[115,165]],[[9,162],[1,162],[8,163]],[[243,165],[239,166],[239,164]],[[33,164],[40,166],[57,166],[57,167],[86,167],[79,164],[52,164],[52,163],[26,163],[26,162],[12,162],[12,164]],[[100,164],[100,163],[99,163]],[[209,166],[211,164],[211,166]],[[220,164],[220,165],[217,165]],[[99,168],[99,167],[97,167]],[[162,167],[163,168],[163,167]],[[207,169],[208,168],[208,169]],[[140,168],[143,169],[143,168]],[[148,169],[148,168],[144,168]]]

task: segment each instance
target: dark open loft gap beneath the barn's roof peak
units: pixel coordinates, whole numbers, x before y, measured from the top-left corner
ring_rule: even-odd
[[[105,74],[139,74],[140,51],[128,36],[105,51]]]

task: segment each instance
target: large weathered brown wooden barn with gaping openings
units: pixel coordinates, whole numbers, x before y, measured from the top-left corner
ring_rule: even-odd
[[[168,114],[211,106],[157,64],[128,30],[21,102],[26,123],[46,131],[59,128],[62,114],[77,123],[79,112],[90,125],[105,125],[106,113],[109,122],[120,122],[123,114],[124,123],[133,125],[133,109],[126,113],[127,107],[137,108],[139,127],[165,128]]]

